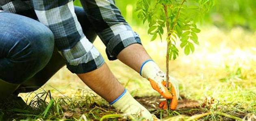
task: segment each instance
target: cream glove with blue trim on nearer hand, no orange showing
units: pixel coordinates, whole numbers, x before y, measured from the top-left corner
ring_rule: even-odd
[[[115,109],[120,110],[124,115],[136,115],[149,121],[153,121],[156,118],[155,115],[150,114],[144,106],[137,102],[126,89],[117,99],[109,104],[112,104]]]

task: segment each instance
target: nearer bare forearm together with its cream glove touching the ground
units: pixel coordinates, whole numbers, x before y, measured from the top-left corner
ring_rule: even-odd
[[[106,63],[94,71],[77,75],[89,88],[124,115],[139,115],[152,121],[150,112],[132,98],[111,73]]]

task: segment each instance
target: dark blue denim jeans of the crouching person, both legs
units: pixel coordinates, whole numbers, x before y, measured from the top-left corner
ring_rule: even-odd
[[[84,34],[93,42],[97,34],[86,12],[75,7],[75,13]],[[53,46],[52,32],[25,16],[0,13],[0,79],[21,83],[17,93],[37,90],[65,65]]]

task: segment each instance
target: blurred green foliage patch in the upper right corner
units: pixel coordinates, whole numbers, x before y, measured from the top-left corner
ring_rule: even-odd
[[[205,17],[206,23],[218,27],[256,29],[256,1],[255,0],[219,0],[218,7],[210,10]]]

